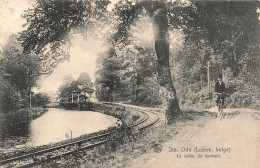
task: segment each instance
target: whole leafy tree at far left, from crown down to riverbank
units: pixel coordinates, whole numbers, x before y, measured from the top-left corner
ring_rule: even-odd
[[[22,101],[16,103],[22,103],[25,107],[28,107],[31,101],[31,89],[37,85],[37,80],[41,75],[41,62],[38,55],[23,53],[21,45],[16,40],[16,36],[12,35],[7,45],[3,48],[1,71],[4,90],[10,90],[8,91],[10,96],[16,92],[19,101]],[[11,97],[9,99],[12,99]],[[5,99],[8,96],[3,96],[2,98]],[[15,100],[17,99],[15,98]],[[14,104],[15,102],[12,103]]]

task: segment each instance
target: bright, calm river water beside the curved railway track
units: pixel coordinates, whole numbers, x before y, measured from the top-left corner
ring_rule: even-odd
[[[117,119],[93,111],[49,108],[48,112],[31,121],[24,131],[29,146],[39,146],[79,137],[116,126]]]

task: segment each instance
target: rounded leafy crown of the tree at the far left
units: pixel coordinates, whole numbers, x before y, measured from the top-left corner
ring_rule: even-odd
[[[17,87],[17,90],[35,86],[41,75],[41,62],[36,54],[24,54],[22,47],[11,36],[3,49],[3,78]]]

